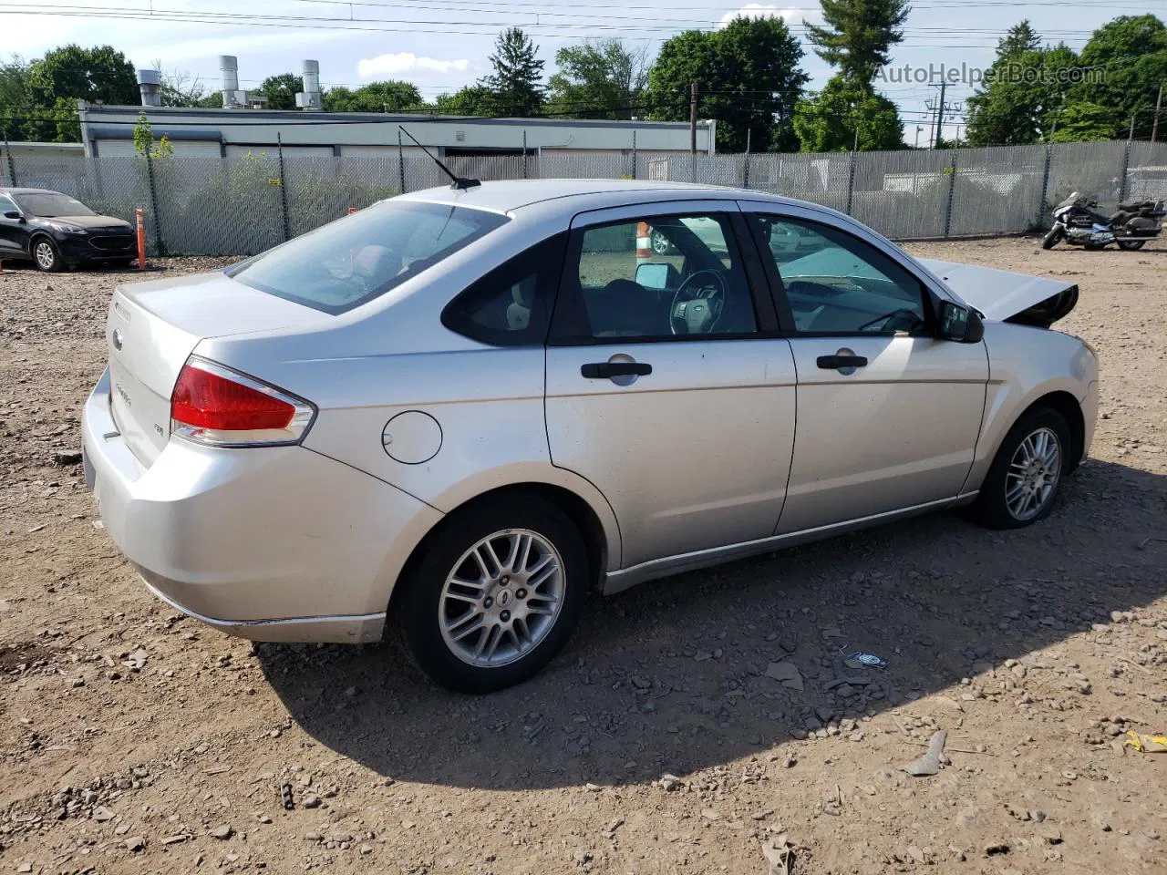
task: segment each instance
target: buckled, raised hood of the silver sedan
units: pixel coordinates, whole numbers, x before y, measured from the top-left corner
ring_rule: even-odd
[[[934,258],[918,261],[994,322],[1049,328],[1078,302],[1077,285],[1065,280]]]

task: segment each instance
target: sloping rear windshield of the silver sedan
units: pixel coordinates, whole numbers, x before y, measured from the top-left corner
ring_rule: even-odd
[[[506,222],[464,206],[386,201],[249,259],[228,275],[324,313],[344,313]]]

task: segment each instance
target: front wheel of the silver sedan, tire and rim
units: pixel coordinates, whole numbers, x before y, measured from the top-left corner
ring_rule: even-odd
[[[1026,413],[1005,435],[972,516],[990,528],[1021,528],[1049,516],[1070,468],[1070,428],[1057,411]]]

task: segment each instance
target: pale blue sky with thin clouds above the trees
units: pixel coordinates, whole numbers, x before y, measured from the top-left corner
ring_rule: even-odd
[[[997,38],[1028,18],[1049,42],[1078,49],[1090,32],[1116,15],[1155,13],[1167,16],[1167,0],[917,0],[906,24],[906,38],[894,50],[896,66],[938,68],[941,64],[985,68],[992,63]],[[239,18],[246,9],[251,20]],[[47,14],[47,13],[61,14]],[[668,7],[650,0],[0,0],[0,26],[9,51],[36,57],[68,42],[111,43],[138,66],[162,61],[167,71],[188,71],[212,90],[219,82],[218,56],[237,55],[240,88],[254,89],[272,74],[299,71],[302,58],[321,65],[321,83],[358,86],[401,78],[414,82],[425,97],[454,91],[490,69],[495,34],[502,27],[523,27],[539,46],[546,71],[555,50],[587,37],[621,36],[655,52],[670,35],[687,28],[711,29],[734,14],[782,15],[796,35],[804,19],[819,20],[813,0],[789,4],[675,0]],[[187,19],[187,20],[175,20]],[[195,19],[195,20],[190,20]],[[811,88],[831,75],[806,46],[803,69]],[[936,89],[922,82],[876,83],[900,106],[906,136],[928,140],[924,102]],[[972,89],[952,85],[946,100],[959,104]],[[958,123],[955,118],[953,123]],[[957,134],[945,126],[945,135]]]

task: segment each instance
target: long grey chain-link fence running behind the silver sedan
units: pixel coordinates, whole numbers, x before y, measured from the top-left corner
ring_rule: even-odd
[[[637,178],[796,197],[847,212],[893,239],[1018,233],[1048,226],[1071,191],[1103,209],[1167,197],[1167,145],[1081,142],[822,154],[529,153],[450,156],[488,180]],[[417,149],[303,158],[267,148],[231,158],[0,156],[6,186],[48,188],[95,210],[146,217],[152,253],[246,256],[401,191],[447,177]]]

